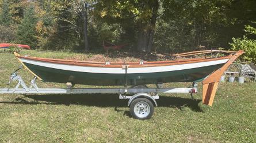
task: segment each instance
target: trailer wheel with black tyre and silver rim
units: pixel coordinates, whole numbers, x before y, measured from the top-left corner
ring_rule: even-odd
[[[133,118],[150,119],[154,113],[154,105],[147,98],[136,98],[130,105],[130,113]]]

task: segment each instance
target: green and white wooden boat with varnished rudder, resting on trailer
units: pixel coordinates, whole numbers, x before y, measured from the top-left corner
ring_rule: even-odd
[[[195,51],[176,54],[178,57],[198,54]],[[202,51],[201,53],[207,53]],[[213,51],[211,51],[213,52]],[[87,62],[64,59],[26,57],[14,53],[22,65],[39,80],[84,85],[145,85],[166,82],[202,81],[203,102],[211,105],[223,72],[243,53],[231,53],[219,58],[178,59],[155,62]]]

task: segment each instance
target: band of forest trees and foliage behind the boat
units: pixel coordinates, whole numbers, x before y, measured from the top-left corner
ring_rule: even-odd
[[[0,42],[32,49],[180,53],[242,49],[256,59],[255,0],[0,0]]]

